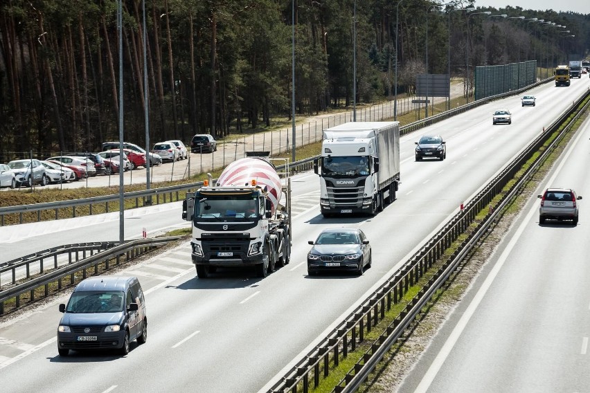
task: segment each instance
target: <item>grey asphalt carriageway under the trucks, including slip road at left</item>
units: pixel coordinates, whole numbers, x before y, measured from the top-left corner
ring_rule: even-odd
[[[220,271],[210,280],[199,280],[190,263],[188,243],[132,266],[127,273],[137,275],[146,292],[150,334],[145,345],[137,347],[134,343],[123,358],[100,353],[57,356],[55,329],[61,316],[57,304],[66,301],[66,294],[34,312],[0,321],[3,389],[264,390],[589,86],[587,79],[573,81],[569,88],[546,84],[530,91],[537,95],[536,107],[521,107],[520,98],[515,96],[402,136],[402,184],[397,201],[375,217],[323,219],[317,207],[316,176],[294,176],[292,262],[264,280],[239,270]],[[492,113],[499,108],[512,111],[512,125],[492,126]],[[422,134],[443,136],[447,160],[414,161],[414,142]],[[152,214],[152,208],[145,214],[125,213],[126,236],[139,235],[142,226],[149,226],[151,232],[151,223],[154,232],[156,227],[161,230],[187,225],[180,219],[179,205],[157,214]],[[4,255],[11,247],[26,249],[28,244],[46,241],[50,233],[76,239],[66,243],[116,239],[118,215],[100,222],[84,221],[89,219],[76,219],[80,221],[71,222],[83,223],[68,222],[62,230],[55,228],[53,232],[33,228],[33,224],[11,228],[24,235],[10,231],[12,242],[10,246],[1,244],[0,252]],[[75,228],[69,229],[70,225]],[[373,248],[373,267],[361,277],[307,277],[307,240],[330,226],[361,226],[366,232]],[[7,232],[0,232],[0,238],[4,239],[3,235]],[[14,377],[19,375],[27,378]],[[80,378],[82,375],[84,378]],[[136,375],[141,377],[131,377]]]

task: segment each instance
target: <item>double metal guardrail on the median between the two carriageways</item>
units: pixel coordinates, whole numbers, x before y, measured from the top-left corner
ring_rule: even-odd
[[[424,246],[413,255],[404,266],[397,271],[393,277],[390,277],[375,293],[370,295],[355,311],[344,318],[339,325],[332,330],[328,336],[323,338],[309,354],[299,360],[285,376],[280,378],[272,385],[269,392],[308,392],[310,389],[318,387],[321,377],[325,378],[330,374],[331,367],[337,367],[341,358],[348,356],[348,351],[355,351],[357,345],[364,341],[366,333],[370,332],[372,326],[377,325],[382,320],[386,311],[391,310],[393,304],[398,304],[404,297],[408,289],[417,284],[418,280],[424,276],[434,262],[436,262],[451,244],[458,239],[467,228],[474,223],[477,214],[487,208],[494,197],[496,197],[508,184],[514,179],[517,172],[530,157],[538,152],[542,145],[550,138],[555,131],[570,115],[580,103],[586,99],[590,93],[587,93],[574,102],[573,106],[562,113],[562,116],[555,120],[552,125],[547,127],[544,133],[540,134],[532,143],[528,145],[521,153],[500,172],[488,185],[479,192],[476,197],[469,201],[464,210],[458,212],[449,222],[431,239],[424,243]],[[589,105],[584,107],[587,109]],[[563,133],[562,133],[563,135]],[[557,139],[553,145],[557,143]],[[551,149],[546,149],[545,154]],[[521,180],[512,186],[511,191],[502,197],[499,201],[498,208],[490,210],[486,217],[474,228],[472,235],[463,241],[461,246],[449,257],[445,266],[433,275],[424,288],[409,301],[400,312],[400,316],[386,329],[385,333],[375,342],[370,344],[370,349],[354,367],[348,372],[347,376],[335,388],[334,392],[355,392],[363,383],[368,374],[375,369],[377,363],[382,360],[386,351],[391,348],[397,338],[400,338],[402,332],[413,322],[424,304],[426,304],[436,290],[444,284],[449,275],[454,271],[456,266],[465,258],[470,249],[476,244],[476,241],[485,233],[497,214],[501,211],[507,201],[521,188],[525,176],[530,173],[544,159],[544,154],[536,158],[531,169],[521,176]]]

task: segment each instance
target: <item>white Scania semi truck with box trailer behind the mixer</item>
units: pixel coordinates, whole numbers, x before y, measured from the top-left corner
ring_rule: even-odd
[[[323,217],[374,215],[395,201],[400,185],[400,123],[348,122],[323,131],[320,176]]]

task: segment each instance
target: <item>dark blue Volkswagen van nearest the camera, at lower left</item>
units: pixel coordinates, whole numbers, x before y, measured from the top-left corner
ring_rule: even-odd
[[[57,326],[57,352],[71,349],[118,349],[129,353],[129,342],[147,340],[145,298],[137,277],[107,275],[82,280],[66,304]]]

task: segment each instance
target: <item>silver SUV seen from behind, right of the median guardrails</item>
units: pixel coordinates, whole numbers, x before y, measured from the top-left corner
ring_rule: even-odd
[[[546,219],[572,220],[573,225],[578,225],[578,199],[571,188],[548,188],[543,195],[537,195],[541,199],[539,207],[539,223],[545,223]]]

